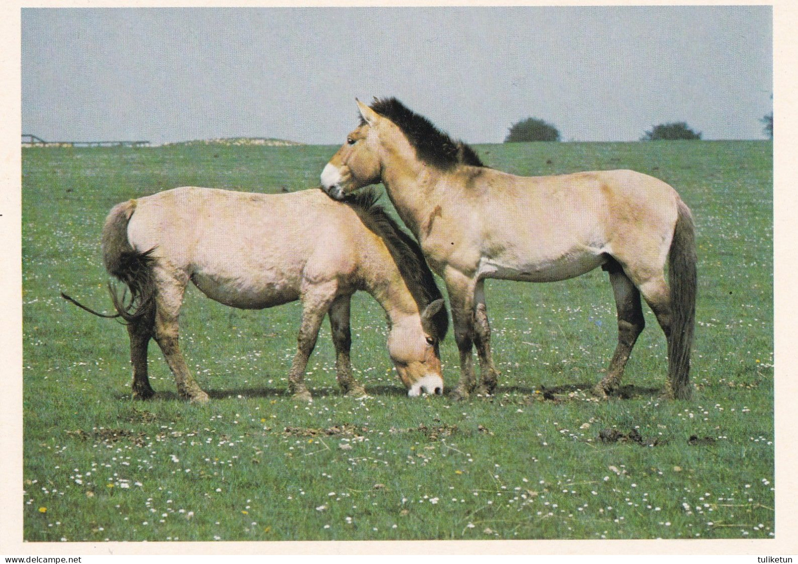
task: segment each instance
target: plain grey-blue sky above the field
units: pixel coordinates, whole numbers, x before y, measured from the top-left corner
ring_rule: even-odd
[[[472,143],[686,121],[760,139],[769,6],[22,9],[22,133],[47,141],[339,144],[395,96]]]

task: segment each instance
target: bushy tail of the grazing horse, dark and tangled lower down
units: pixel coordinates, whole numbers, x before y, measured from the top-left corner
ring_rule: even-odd
[[[130,290],[128,300],[126,292],[120,296],[112,283],[109,282],[108,285],[113,307],[128,323],[152,314],[156,294],[151,256],[155,248],[139,252],[128,240],[128,223],[135,211],[135,200],[115,205],[105,218],[102,229],[102,257],[105,270]]]

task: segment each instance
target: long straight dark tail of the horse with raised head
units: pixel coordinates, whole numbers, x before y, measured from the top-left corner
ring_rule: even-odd
[[[690,349],[696,315],[696,244],[693,214],[679,200],[674,240],[668,253],[671,324],[668,335],[668,380],[676,399],[689,399]]]

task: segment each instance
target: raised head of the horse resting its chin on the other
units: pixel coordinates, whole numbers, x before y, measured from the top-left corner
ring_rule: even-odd
[[[378,128],[381,119],[369,106],[358,100],[363,123],[346,136],[346,143],[322,170],[322,189],[335,200],[346,194],[381,182]]]

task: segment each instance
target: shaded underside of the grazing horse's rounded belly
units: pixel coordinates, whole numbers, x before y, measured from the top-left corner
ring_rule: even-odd
[[[240,309],[272,308],[299,299],[298,281],[265,277],[230,277],[195,272],[192,282],[220,304]]]

